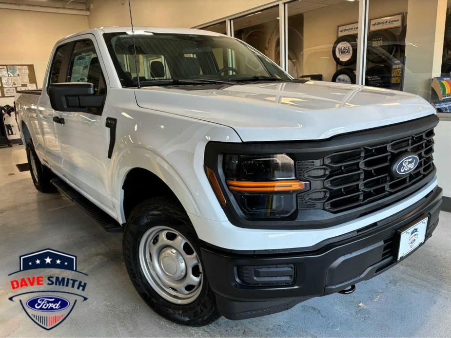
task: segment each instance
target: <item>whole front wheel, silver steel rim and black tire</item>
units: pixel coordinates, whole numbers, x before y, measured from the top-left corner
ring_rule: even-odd
[[[158,314],[190,326],[219,318],[196,232],[177,203],[158,197],[135,207],[124,229],[123,249],[133,285]]]

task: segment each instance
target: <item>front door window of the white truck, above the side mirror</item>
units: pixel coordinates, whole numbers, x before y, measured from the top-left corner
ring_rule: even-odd
[[[69,62],[67,82],[89,82],[96,94],[105,94],[105,80],[91,40],[77,41]]]

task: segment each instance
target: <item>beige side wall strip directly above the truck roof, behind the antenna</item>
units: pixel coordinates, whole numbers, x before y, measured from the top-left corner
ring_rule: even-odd
[[[128,0],[94,0],[89,27],[130,25]],[[132,0],[133,24],[193,27],[272,0]]]

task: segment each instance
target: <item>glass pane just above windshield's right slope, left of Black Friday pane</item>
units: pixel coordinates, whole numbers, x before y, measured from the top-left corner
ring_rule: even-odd
[[[233,20],[234,37],[280,64],[279,6]]]

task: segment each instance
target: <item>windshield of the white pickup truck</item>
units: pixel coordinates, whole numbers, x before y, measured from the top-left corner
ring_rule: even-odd
[[[271,60],[224,36],[131,32],[104,34],[122,86],[291,80]]]

